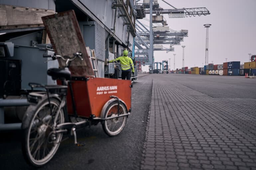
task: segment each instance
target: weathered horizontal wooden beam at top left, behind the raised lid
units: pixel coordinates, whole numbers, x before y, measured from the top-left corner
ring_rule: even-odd
[[[40,25],[43,24],[41,17],[54,14],[53,10],[38,9],[38,8],[27,8],[12,5],[0,4],[0,26],[1,29],[8,29],[7,26],[27,26],[29,25]]]

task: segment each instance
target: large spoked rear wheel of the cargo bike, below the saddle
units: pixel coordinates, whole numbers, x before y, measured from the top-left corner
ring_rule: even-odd
[[[30,105],[23,119],[22,129],[24,139],[22,141],[23,155],[29,164],[43,166],[55,155],[62,140],[62,133],[53,133],[55,123],[64,123],[63,108],[55,119],[60,107],[60,101],[51,98],[39,102],[38,105]],[[51,115],[51,109],[53,115]]]

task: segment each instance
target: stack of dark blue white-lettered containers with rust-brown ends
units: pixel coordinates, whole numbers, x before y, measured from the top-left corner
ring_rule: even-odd
[[[224,76],[239,76],[240,75],[240,61],[232,61],[223,63]]]

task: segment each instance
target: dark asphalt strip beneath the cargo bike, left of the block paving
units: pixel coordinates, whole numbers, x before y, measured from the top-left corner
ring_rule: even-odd
[[[142,160],[147,116],[151,100],[152,79],[141,77],[132,88],[132,114],[117,137],[108,137],[101,124],[77,132],[79,142],[73,139],[61,143],[56,155],[39,169],[58,170],[137,170]],[[19,131],[0,133],[0,169],[34,169],[22,155]]]

